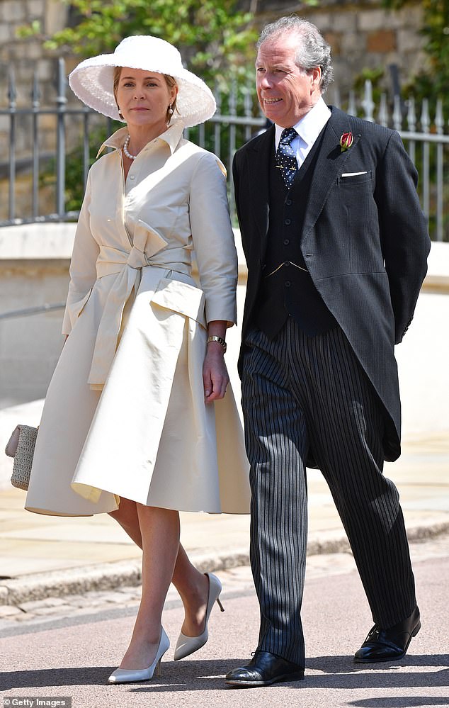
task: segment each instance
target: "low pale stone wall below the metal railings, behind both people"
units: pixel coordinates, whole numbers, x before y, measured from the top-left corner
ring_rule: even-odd
[[[0,229],[0,313],[67,296],[73,224],[8,226]],[[243,312],[246,266],[239,254],[237,312]],[[428,274],[414,321],[396,348],[405,438],[448,429],[449,420],[449,244],[433,243]],[[62,347],[62,310],[0,320],[0,410],[45,396]],[[239,399],[239,326],[227,332],[229,375]],[[25,421],[22,421],[25,422]]]

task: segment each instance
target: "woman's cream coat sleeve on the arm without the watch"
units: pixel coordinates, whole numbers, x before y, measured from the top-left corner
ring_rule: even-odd
[[[91,173],[86,185],[84,201],[76,225],[72,260],[70,262],[70,282],[67,303],[62,322],[62,334],[69,335],[76,318],[89,298],[96,281],[96,259],[99,247],[90,227],[89,206],[91,201]]]

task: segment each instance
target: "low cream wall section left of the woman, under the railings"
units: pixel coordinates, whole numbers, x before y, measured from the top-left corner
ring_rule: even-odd
[[[0,314],[64,303],[74,224],[0,229]],[[63,337],[62,310],[0,319],[0,408],[42,398]]]

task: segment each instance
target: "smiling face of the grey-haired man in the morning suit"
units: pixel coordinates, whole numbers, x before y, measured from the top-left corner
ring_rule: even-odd
[[[258,101],[266,117],[281,128],[295,125],[321,95],[319,67],[306,73],[295,64],[298,41],[294,33],[268,37],[256,59]]]

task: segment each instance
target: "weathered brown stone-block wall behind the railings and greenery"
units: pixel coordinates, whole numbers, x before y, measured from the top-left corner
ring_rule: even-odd
[[[249,2],[250,0],[242,0]],[[409,79],[424,63],[419,36],[421,5],[418,0],[401,11],[382,9],[381,0],[319,0],[317,8],[302,3],[290,4],[286,0],[259,0],[258,23],[281,14],[296,12],[307,17],[323,31],[331,44],[336,69],[336,83],[346,107],[345,97],[353,85],[353,79],[363,67],[384,67],[383,88],[390,91],[390,64],[396,64],[403,80]],[[13,67],[16,78],[16,106],[18,109],[31,106],[33,74],[38,76],[40,106],[56,107],[57,56],[42,46],[40,38],[18,38],[16,33],[23,25],[40,22],[42,35],[52,35],[70,21],[69,9],[62,0],[0,0],[0,108],[8,106],[8,71]],[[78,59],[64,57],[69,73]],[[72,91],[67,88],[66,97],[72,106],[80,106]],[[336,100],[331,86],[326,100]],[[65,117],[67,147],[72,149],[81,140],[81,116]],[[38,117],[38,147],[40,172],[54,170],[56,152],[57,118],[41,114]],[[0,116],[0,142],[10,141],[10,120]],[[14,216],[28,218],[30,204],[30,156],[33,150],[33,118],[16,115],[16,211]],[[0,220],[9,216],[8,208],[8,154],[0,156]],[[51,167],[51,169],[50,169]],[[55,208],[54,186],[40,185],[39,213],[52,213]]]

